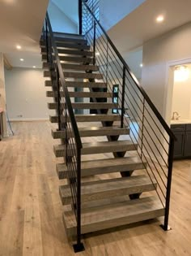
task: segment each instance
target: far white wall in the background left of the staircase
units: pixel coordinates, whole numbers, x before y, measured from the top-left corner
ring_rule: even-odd
[[[10,119],[49,119],[45,78],[41,69],[13,68],[5,72],[6,104]],[[19,115],[22,115],[20,117]]]

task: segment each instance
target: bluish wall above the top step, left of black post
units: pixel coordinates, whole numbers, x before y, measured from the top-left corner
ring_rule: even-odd
[[[52,1],[49,2],[48,12],[54,32],[78,33],[78,25],[70,20]]]

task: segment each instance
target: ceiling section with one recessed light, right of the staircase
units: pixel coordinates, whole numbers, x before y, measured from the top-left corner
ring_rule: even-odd
[[[167,33],[191,21],[190,0],[146,0],[127,15],[108,34],[121,53],[142,46],[143,42]],[[164,22],[157,24],[155,18],[164,15]]]

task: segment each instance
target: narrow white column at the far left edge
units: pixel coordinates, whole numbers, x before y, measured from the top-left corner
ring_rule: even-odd
[[[3,54],[0,52],[0,107],[3,109],[3,131],[4,137],[8,136],[7,123],[6,123],[6,89],[5,89],[5,74],[4,74],[4,62]]]

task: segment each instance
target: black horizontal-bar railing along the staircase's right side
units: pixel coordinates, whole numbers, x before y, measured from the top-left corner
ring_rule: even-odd
[[[163,227],[167,230],[176,137],[104,31],[95,2],[99,6],[99,1],[83,1],[83,36],[94,51],[94,63],[100,67],[112,98],[113,86],[117,86],[114,103],[121,115],[121,128],[129,127],[129,137],[138,146],[138,155],[165,209]]]

